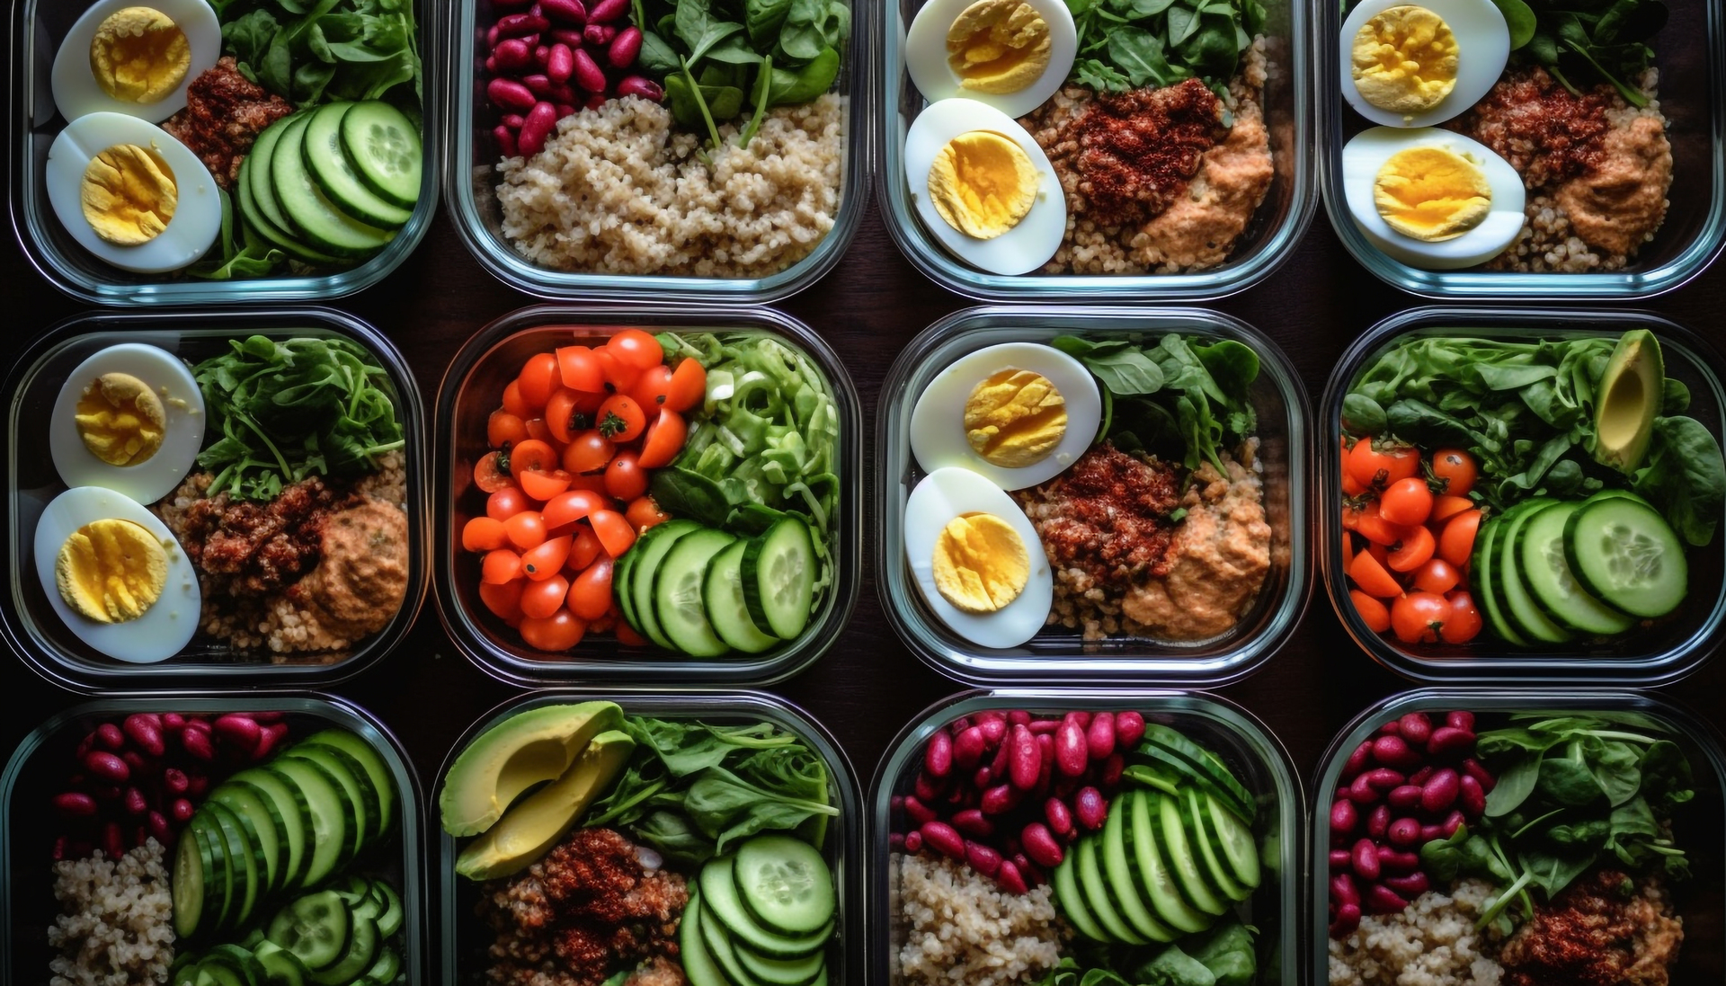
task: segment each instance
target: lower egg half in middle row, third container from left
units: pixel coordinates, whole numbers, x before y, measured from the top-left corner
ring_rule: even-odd
[[[904,559],[941,622],[972,642],[1017,648],[1048,622],[1055,573],[1036,527],[970,470],[934,470],[911,490]]]

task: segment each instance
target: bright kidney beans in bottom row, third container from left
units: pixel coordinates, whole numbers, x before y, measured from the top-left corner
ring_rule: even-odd
[[[956,718],[929,737],[911,793],[892,800],[891,843],[960,860],[1027,893],[1048,882],[1063,846],[1103,827],[1125,751],[1143,737],[1136,711]]]

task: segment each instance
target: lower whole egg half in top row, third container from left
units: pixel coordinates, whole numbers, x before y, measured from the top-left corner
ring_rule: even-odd
[[[977,100],[941,100],[917,114],[904,180],[930,235],[989,273],[1041,268],[1067,233],[1049,155],[1013,117]]]

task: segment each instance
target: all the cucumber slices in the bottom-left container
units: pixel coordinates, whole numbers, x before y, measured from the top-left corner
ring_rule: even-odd
[[[400,793],[359,736],[330,729],[211,789],[174,853],[173,986],[387,986],[402,898],[350,867],[397,827]]]

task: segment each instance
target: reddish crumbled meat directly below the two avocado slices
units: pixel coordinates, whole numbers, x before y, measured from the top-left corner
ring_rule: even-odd
[[[478,913],[497,932],[487,976],[499,986],[599,986],[633,969],[640,986],[683,986],[670,958],[687,903],[683,877],[644,869],[621,834],[575,829],[520,875],[485,886]]]

